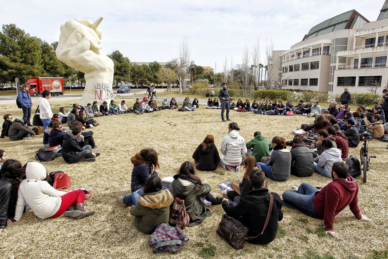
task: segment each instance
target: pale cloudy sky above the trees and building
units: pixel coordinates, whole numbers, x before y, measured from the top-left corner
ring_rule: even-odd
[[[376,21],[383,3],[384,0],[2,0],[0,24],[14,23],[26,33],[52,43],[59,39],[60,26],[67,20],[95,21],[102,16],[100,46],[106,54],[119,50],[131,62],[167,62],[178,56],[178,43],[187,36],[192,60],[221,72],[225,56],[229,65],[240,63],[244,46],[251,48],[258,39],[264,59],[267,39],[274,41],[274,50],[287,50],[316,24],[348,10],[355,9],[369,21]]]

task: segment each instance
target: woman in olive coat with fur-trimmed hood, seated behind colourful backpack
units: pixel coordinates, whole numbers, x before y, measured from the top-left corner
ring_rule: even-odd
[[[143,193],[134,201],[130,214],[135,216],[135,228],[149,235],[170,218],[170,205],[174,197],[171,192],[162,189],[158,176],[151,176],[144,184]]]

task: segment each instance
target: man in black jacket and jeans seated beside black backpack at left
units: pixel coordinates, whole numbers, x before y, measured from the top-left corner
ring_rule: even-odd
[[[81,135],[81,127],[74,127],[72,130],[66,131],[66,136],[63,140],[62,145],[62,157],[66,163],[77,163],[79,161],[85,162],[94,162],[95,157],[99,156],[100,153],[92,153],[92,147],[90,145],[80,147],[78,144],[77,138],[80,137],[83,140]]]

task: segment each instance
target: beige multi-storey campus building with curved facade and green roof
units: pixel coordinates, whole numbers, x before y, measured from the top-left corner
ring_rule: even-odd
[[[301,42],[282,52],[278,82],[283,82],[285,89],[329,94],[341,93],[344,87],[350,92],[367,93],[377,86],[380,93],[388,83],[386,18],[388,0],[377,21],[370,22],[350,10],[315,25]],[[272,59],[275,66],[274,62]]]

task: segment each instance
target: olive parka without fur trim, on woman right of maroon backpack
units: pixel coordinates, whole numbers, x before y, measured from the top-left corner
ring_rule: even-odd
[[[186,212],[190,216],[189,226],[199,225],[211,215],[203,201],[203,195],[211,191],[209,184],[200,185],[184,174],[176,174],[172,181],[172,190],[174,198],[182,198],[185,202]]]

